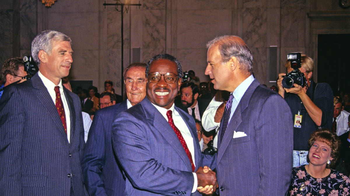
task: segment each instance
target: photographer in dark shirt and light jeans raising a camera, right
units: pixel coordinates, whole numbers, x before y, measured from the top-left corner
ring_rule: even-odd
[[[332,127],[333,92],[327,83],[311,77],[314,60],[303,53],[290,53],[287,73],[278,75],[278,93],[292,111],[294,124],[293,167],[308,164],[308,138],[319,128]]]

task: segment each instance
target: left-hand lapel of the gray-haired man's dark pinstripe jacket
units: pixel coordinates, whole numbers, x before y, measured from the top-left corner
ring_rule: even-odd
[[[31,78],[31,83],[33,84],[33,87],[36,89],[36,95],[40,97],[40,99],[38,100],[42,103],[43,107],[48,110],[48,113],[52,114],[52,115],[49,115],[51,116],[52,121],[56,123],[57,127],[59,127],[59,130],[62,132],[62,134],[66,136],[64,128],[62,126],[61,118],[58,115],[56,106],[52,101],[52,98],[49,92],[47,91],[47,88],[45,87],[44,83],[42,82],[38,74],[35,74]]]

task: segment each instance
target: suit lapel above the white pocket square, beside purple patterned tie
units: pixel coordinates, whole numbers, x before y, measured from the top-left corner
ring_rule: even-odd
[[[216,161],[217,164],[220,162],[224,152],[226,151],[226,148],[228,147],[230,141],[232,140],[234,131],[236,131],[238,126],[241,124],[241,122],[242,122],[241,114],[248,107],[248,103],[250,101],[250,98],[258,85],[259,85],[259,82],[254,79],[254,81],[250,84],[248,89],[245,91],[243,97],[241,98],[240,102],[238,103],[237,108],[235,110],[235,113],[233,113],[232,118],[231,118],[229,124],[227,125],[224,137],[222,138],[222,141],[221,142],[218,141],[219,142],[218,143],[218,155],[217,155],[217,161]],[[219,129],[218,135],[220,135],[220,133],[222,131],[221,124],[222,124],[222,119],[220,122],[220,129]]]

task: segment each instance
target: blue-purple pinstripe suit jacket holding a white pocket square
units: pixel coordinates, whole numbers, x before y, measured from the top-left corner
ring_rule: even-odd
[[[292,174],[292,119],[280,95],[257,80],[252,82],[218,141],[216,176],[221,196],[285,195]],[[233,138],[234,131],[247,136]]]

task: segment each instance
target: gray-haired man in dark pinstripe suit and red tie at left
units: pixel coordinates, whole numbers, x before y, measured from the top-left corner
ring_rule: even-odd
[[[73,62],[71,39],[43,31],[31,53],[39,72],[0,101],[0,195],[87,195],[81,105],[61,82]]]

